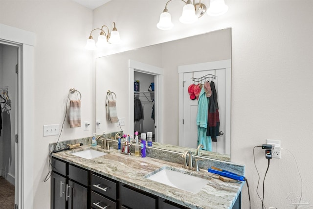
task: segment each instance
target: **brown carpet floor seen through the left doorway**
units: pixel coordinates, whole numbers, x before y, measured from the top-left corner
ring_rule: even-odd
[[[0,176],[0,209],[14,209],[14,185]]]

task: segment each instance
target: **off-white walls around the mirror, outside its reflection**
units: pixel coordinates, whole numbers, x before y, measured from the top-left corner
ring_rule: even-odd
[[[116,22],[124,41],[96,55],[148,46],[182,37],[232,27],[232,146],[231,160],[246,164],[252,208],[261,208],[256,195],[257,173],[252,149],[266,139],[280,139],[298,160],[304,183],[303,198],[313,202],[311,174],[313,148],[313,14],[312,0],[226,0],[229,11],[221,17],[203,17],[193,25],[180,24],[179,1],[169,5],[175,28],[156,28],[166,0],[113,0],[94,10],[93,26]],[[175,4],[175,5],[174,5]],[[116,6],[118,5],[118,6]],[[145,8],[145,9],[142,9]],[[82,93],[82,118],[95,120],[92,102],[90,52],[86,38],[92,27],[92,12],[69,0],[1,0],[1,23],[36,33],[35,47],[35,139],[34,208],[49,208],[47,173],[48,143],[44,124],[61,123],[68,89]],[[59,41],[60,40],[60,41]],[[66,129],[61,140],[90,136],[83,128]],[[267,161],[256,151],[263,177]],[[25,169],[25,168],[24,168]],[[276,173],[279,173],[277,175]],[[31,180],[30,180],[31,181]],[[281,160],[272,160],[266,179],[265,204],[287,208],[286,196],[300,195],[300,181],[291,155],[283,150]],[[259,187],[260,188],[260,187]],[[246,187],[243,208],[247,208]]]

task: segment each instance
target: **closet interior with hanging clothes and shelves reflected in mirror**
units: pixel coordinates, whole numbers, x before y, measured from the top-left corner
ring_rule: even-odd
[[[155,92],[151,84],[155,82],[155,75],[134,71],[134,131],[153,133],[155,136]],[[141,112],[142,111],[142,112]],[[140,135],[139,135],[140,136]]]

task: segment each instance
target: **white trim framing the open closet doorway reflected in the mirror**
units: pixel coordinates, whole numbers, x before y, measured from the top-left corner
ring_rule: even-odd
[[[162,68],[152,66],[149,64],[141,63],[135,60],[129,60],[129,133],[134,132],[134,71],[143,72],[155,75],[155,125],[156,125],[156,142],[163,143],[163,117],[162,117],[162,100],[163,100],[163,76],[164,70]]]

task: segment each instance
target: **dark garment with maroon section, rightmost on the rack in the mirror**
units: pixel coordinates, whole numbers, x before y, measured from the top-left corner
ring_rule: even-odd
[[[217,141],[217,136],[220,136],[219,104],[217,103],[217,93],[213,81],[211,81],[210,87],[212,95],[209,99],[206,136],[210,136],[212,141]]]

